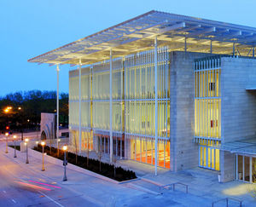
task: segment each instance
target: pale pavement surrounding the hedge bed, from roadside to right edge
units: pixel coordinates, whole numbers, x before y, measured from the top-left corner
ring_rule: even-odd
[[[2,149],[1,149],[2,150]],[[25,164],[26,153],[18,152],[18,158],[13,158],[13,152],[5,154],[15,160],[21,167],[32,170],[38,175],[67,187],[75,193],[80,193],[91,203],[98,206],[211,206],[212,201],[219,198],[237,198],[242,200],[242,206],[256,206],[256,201],[249,193],[249,185],[240,181],[218,183],[218,173],[211,170],[193,169],[172,173],[160,169],[159,175],[154,175],[154,166],[139,164],[131,160],[119,160],[118,165],[135,170],[141,180],[125,184],[114,184],[103,181],[91,175],[85,175],[74,170],[67,170],[68,181],[63,182],[63,166],[46,163],[46,170],[41,171],[42,160],[29,157],[30,164]],[[182,182],[189,185],[189,193],[184,193],[183,186],[177,186],[176,191],[162,189],[161,185]],[[219,203],[214,206],[224,206]],[[239,206],[230,202],[229,206]]]

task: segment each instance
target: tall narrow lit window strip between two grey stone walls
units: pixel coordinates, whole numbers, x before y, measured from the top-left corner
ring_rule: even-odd
[[[212,170],[219,170],[220,72],[220,57],[195,60],[195,141],[199,166]]]

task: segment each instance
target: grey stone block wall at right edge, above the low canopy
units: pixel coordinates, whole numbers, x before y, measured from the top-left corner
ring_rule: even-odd
[[[221,136],[222,143],[244,140],[256,135],[256,60],[221,59]]]

